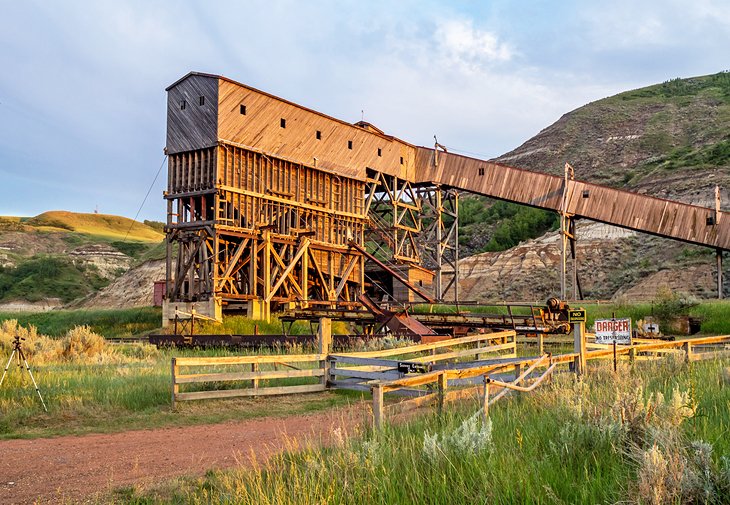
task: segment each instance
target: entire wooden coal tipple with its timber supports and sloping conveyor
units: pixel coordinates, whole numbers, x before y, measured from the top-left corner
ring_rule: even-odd
[[[712,247],[718,265],[730,249],[719,204],[417,147],[217,75],[167,92],[165,321],[175,309],[347,308],[366,290],[441,300],[458,290],[461,190],[559,212],[564,258],[579,217]]]

